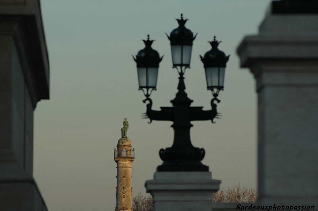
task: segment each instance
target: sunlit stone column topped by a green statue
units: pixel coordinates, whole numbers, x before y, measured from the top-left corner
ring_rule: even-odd
[[[131,186],[131,164],[135,160],[135,150],[127,138],[128,121],[125,118],[121,128],[121,139],[114,150],[114,160],[117,163],[117,186],[115,210],[132,211],[133,187]]]

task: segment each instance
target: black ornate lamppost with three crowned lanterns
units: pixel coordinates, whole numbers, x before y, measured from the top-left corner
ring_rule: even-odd
[[[139,90],[142,90],[146,99],[147,112],[145,118],[158,121],[172,121],[172,128],[175,131],[172,147],[160,149],[159,155],[162,159],[162,165],[157,167],[157,171],[209,171],[209,167],[202,164],[205,151],[203,148],[194,147],[190,140],[190,128],[193,126],[190,122],[197,120],[211,120],[218,118],[217,105],[220,100],[217,99],[220,90],[224,89],[224,76],[226,63],[229,56],[218,49],[218,42],[215,39],[209,42],[212,49],[201,57],[204,64],[207,89],[212,91],[211,110],[204,111],[203,107],[190,107],[193,100],[187,97],[184,85],[184,73],[190,68],[192,43],[197,35],[193,36],[191,30],[185,28],[188,19],[176,19],[179,23],[178,28],[172,30],[170,36],[171,54],[173,68],[179,73],[178,92],[175,99],[171,100],[173,107],[161,107],[160,111],[152,110],[152,100],[149,98],[151,92],[156,90],[159,63],[162,60],[159,53],[151,48],[154,40],[143,40],[146,47],[138,51],[136,57],[133,57],[137,63],[137,74]],[[149,122],[149,123],[150,123]],[[213,122],[214,123],[214,122]]]

